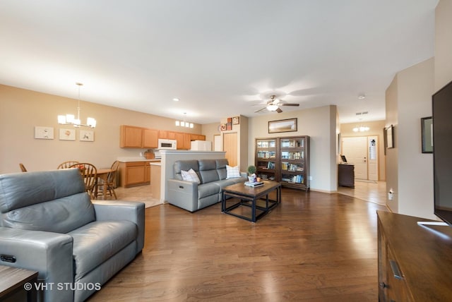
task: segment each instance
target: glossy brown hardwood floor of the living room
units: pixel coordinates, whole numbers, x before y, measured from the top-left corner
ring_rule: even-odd
[[[143,252],[89,301],[378,301],[376,210],[343,194],[283,188],[256,223],[145,210]]]

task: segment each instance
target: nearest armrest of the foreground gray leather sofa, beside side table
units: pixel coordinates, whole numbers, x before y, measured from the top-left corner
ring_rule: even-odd
[[[0,227],[0,254],[15,262],[0,265],[35,270],[46,285],[43,301],[72,301],[73,291],[57,290],[57,284],[73,283],[73,239],[67,234]],[[35,286],[35,284],[32,284]]]

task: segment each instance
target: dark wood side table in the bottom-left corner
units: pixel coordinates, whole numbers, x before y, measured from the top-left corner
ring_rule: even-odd
[[[0,301],[35,302],[37,300],[36,284],[37,272],[0,265]],[[30,289],[28,289],[29,285]]]

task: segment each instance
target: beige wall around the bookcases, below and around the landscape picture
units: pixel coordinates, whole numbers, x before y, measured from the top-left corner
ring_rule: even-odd
[[[337,109],[331,105],[249,118],[248,164],[254,164],[255,138],[309,135],[311,190],[336,192],[338,190],[336,116]],[[268,133],[268,121],[292,118],[298,119],[297,132]]]

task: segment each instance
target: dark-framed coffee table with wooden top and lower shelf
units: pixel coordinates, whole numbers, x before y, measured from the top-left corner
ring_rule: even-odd
[[[276,200],[268,198],[268,195],[276,191]],[[226,200],[236,201],[229,207],[226,206]],[[237,202],[237,200],[239,200]],[[235,217],[246,219],[250,222],[256,222],[264,215],[268,214],[273,207],[281,202],[281,184],[273,181],[264,181],[263,186],[249,187],[244,183],[236,183],[232,186],[222,188],[221,211]],[[251,208],[249,211],[242,207]],[[256,214],[256,212],[258,212]]]

